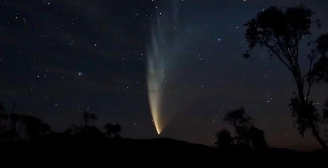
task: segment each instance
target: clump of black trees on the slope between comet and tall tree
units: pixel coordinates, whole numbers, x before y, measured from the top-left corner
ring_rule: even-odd
[[[217,134],[216,144],[224,148],[235,146],[236,148],[266,149],[268,144],[265,141],[263,130],[254,126],[244,107],[230,111],[223,119],[229,122],[235,131],[235,137],[231,137],[230,132],[223,129]]]

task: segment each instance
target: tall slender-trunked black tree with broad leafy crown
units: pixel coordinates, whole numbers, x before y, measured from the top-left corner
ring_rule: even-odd
[[[322,147],[328,149],[327,144],[319,134],[318,125],[321,118],[317,109],[313,106],[313,101],[309,100],[311,87],[317,79],[315,76],[310,75],[314,69],[315,57],[313,54],[308,56],[309,70],[307,74],[301,72],[298,63],[299,42],[304,36],[311,34],[310,28],[314,23],[311,20],[312,14],[311,9],[303,6],[286,8],[284,11],[272,6],[263,12],[259,12],[256,18],[245,24],[247,27],[245,37],[251,49],[257,44],[268,48],[271,53],[270,59],[272,56],[276,56],[291,72],[297,85],[297,94],[294,94],[289,104],[292,116],[296,117],[294,126],[298,126],[298,131],[302,136],[304,136],[306,129],[311,129],[313,136]],[[318,27],[321,27],[320,21],[317,20],[316,22]],[[319,51],[326,50],[326,46],[321,44],[318,48]],[[243,56],[247,58],[250,55],[247,52]]]

